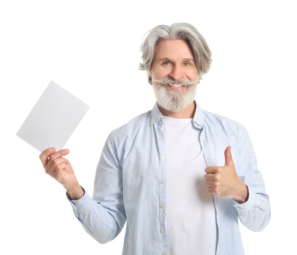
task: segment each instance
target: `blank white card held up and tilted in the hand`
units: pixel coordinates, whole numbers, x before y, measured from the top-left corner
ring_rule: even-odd
[[[90,106],[50,82],[16,135],[40,152],[63,149]]]

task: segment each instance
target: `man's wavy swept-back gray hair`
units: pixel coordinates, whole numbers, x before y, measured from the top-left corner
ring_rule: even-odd
[[[202,75],[206,74],[212,62],[211,51],[201,34],[189,23],[173,23],[171,26],[158,25],[148,31],[148,37],[141,44],[143,63],[140,70],[150,70],[158,42],[163,40],[183,40],[188,43],[197,67],[198,83]],[[151,76],[148,73],[148,83],[151,85]]]

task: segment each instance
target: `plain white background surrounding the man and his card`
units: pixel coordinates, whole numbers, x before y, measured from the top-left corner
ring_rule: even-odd
[[[125,228],[97,243],[72,212],[40,152],[16,136],[50,80],[91,106],[64,148],[92,196],[109,132],[151,110],[140,45],[159,24],[188,22],[212,51],[201,108],[247,128],[271,221],[240,222],[247,255],[296,250],[296,8],[294,1],[1,1],[0,255],[120,255]],[[60,125],[52,123],[52,125]]]

